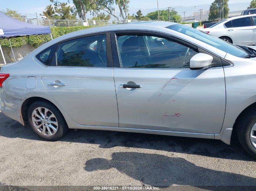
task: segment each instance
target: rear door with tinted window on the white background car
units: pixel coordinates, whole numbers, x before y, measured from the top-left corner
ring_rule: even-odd
[[[226,28],[233,40],[239,44],[251,44],[253,41],[253,26],[251,17],[238,18],[231,21],[232,27]]]

